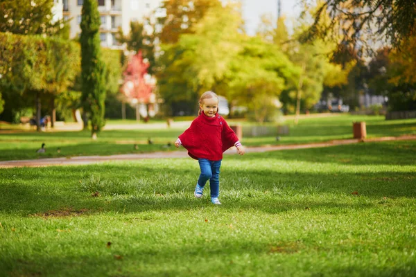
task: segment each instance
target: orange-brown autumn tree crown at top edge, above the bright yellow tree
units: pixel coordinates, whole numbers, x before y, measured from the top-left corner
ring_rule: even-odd
[[[166,17],[159,18],[162,30],[159,34],[160,42],[174,44],[180,35],[193,33],[193,26],[205,16],[211,8],[221,7],[218,0],[165,0],[162,8]]]

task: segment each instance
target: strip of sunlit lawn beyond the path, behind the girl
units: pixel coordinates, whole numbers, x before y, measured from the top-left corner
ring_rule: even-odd
[[[290,133],[277,134],[275,125],[266,124],[270,135],[249,137],[244,136],[242,142],[246,146],[282,145],[297,143],[313,143],[333,139],[352,139],[352,123],[365,121],[369,138],[380,136],[400,136],[416,134],[416,119],[384,120],[383,116],[350,116],[340,115],[327,118],[302,118],[298,125],[293,120],[286,120]],[[125,123],[121,120],[109,120],[108,125],[134,124],[132,120]],[[161,122],[157,121],[160,125]],[[243,125],[248,129],[253,123],[229,120],[229,125]],[[107,130],[98,134],[98,140],[92,141],[89,132],[41,132],[19,130],[16,125],[0,126],[0,160],[38,159],[51,157],[71,157],[85,155],[128,154],[155,151],[176,151],[174,147],[166,147],[173,143],[186,127],[148,128],[145,123],[137,129]],[[141,127],[143,126],[143,127]],[[162,124],[163,126],[163,124]],[[148,139],[153,141],[148,144]],[[35,150],[46,143],[46,153],[37,154]],[[137,144],[137,150],[133,147]],[[60,152],[57,150],[60,148]],[[180,149],[183,151],[183,148]]]

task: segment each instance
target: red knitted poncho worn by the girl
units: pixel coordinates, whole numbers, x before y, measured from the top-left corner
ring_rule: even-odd
[[[223,159],[223,152],[239,141],[222,116],[208,117],[203,112],[179,139],[193,159]]]

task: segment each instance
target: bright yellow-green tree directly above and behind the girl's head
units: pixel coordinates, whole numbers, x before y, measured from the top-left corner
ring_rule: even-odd
[[[234,6],[214,7],[194,25],[194,33],[181,35],[177,44],[162,46],[157,79],[168,105],[186,101],[191,113],[201,93],[218,92],[216,86],[241,48],[240,26],[241,15]]]

